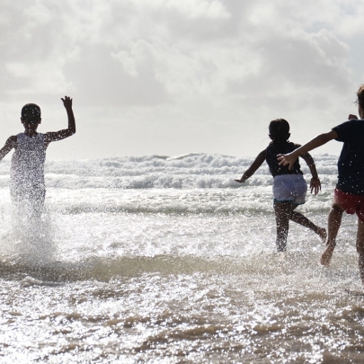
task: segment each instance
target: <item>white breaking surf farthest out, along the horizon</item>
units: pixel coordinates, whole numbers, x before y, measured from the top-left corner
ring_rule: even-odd
[[[47,187],[83,189],[183,189],[183,188],[239,188],[234,181],[252,164],[252,157],[190,153],[186,155],[145,155],[101,158],[75,161],[47,161]],[[315,157],[317,171],[324,182],[334,185],[337,175],[337,157]],[[309,173],[301,163],[303,172]],[[0,164],[0,187],[9,184],[10,162]],[[307,175],[309,178],[309,175]],[[267,164],[244,185],[271,184]]]

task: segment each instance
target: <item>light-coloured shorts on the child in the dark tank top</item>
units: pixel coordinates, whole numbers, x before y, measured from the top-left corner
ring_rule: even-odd
[[[307,183],[302,174],[276,175],[273,180],[274,202],[305,203]]]

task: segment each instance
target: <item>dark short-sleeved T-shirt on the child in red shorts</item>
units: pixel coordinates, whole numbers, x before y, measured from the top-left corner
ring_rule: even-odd
[[[338,161],[336,188],[354,195],[364,195],[364,120],[345,121],[333,128],[343,142]]]

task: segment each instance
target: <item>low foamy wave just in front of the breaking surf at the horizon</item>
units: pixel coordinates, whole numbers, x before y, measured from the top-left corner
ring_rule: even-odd
[[[49,189],[49,206],[62,214],[153,213],[153,214],[246,214],[272,212],[271,186],[245,186],[242,189]],[[317,196],[307,194],[300,209],[326,211],[333,189]]]

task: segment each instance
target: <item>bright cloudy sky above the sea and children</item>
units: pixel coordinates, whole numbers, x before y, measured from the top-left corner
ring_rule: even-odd
[[[27,102],[40,132],[67,128],[64,95],[77,132],[50,159],[255,156],[277,118],[303,144],[357,114],[364,83],[364,2],[304,3],[2,0],[0,144]]]

